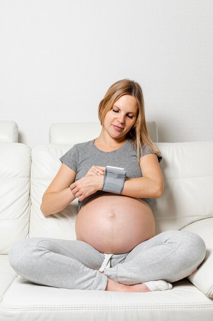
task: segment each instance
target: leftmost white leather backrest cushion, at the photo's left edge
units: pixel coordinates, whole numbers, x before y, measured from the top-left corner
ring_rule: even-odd
[[[0,254],[29,232],[31,149],[0,144]]]

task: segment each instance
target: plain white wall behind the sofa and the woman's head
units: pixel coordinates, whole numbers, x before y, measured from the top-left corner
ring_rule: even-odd
[[[159,142],[213,139],[212,39],[212,0],[0,0],[0,120],[33,148],[129,78]]]

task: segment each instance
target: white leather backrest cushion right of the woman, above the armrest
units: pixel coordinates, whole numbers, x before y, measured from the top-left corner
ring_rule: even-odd
[[[164,191],[153,200],[156,233],[213,216],[213,141],[157,143]]]

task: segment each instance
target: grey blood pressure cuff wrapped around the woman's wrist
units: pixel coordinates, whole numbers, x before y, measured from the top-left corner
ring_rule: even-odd
[[[126,179],[126,171],[121,167],[106,166],[102,191],[121,194]]]

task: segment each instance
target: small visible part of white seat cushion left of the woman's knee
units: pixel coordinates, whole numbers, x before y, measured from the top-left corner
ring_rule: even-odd
[[[0,255],[0,300],[16,275],[17,273],[10,266],[8,255]]]

